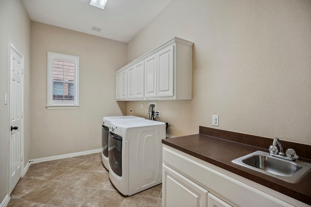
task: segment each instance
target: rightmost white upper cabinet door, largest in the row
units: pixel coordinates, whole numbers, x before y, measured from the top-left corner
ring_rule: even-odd
[[[174,95],[174,46],[157,53],[157,96]]]

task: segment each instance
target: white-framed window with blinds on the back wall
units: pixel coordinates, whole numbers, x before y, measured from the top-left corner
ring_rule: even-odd
[[[78,56],[48,52],[48,109],[78,107],[78,72]]]

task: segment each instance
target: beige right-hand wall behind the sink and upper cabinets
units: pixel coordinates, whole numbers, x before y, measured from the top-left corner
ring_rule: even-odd
[[[311,144],[310,0],[173,0],[128,43],[127,61],[173,36],[194,42],[193,98],[156,101],[168,136],[213,127],[215,114],[214,128]],[[126,111],[147,117],[147,106]]]

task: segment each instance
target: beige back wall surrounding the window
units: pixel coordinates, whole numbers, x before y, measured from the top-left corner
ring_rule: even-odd
[[[46,109],[48,51],[80,56],[79,109]],[[31,159],[101,148],[103,116],[125,109],[115,101],[114,75],[126,44],[32,22],[31,54]]]

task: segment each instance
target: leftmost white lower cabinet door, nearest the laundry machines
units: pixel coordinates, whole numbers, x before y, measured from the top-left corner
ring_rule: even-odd
[[[207,190],[163,164],[162,207],[207,207]]]

